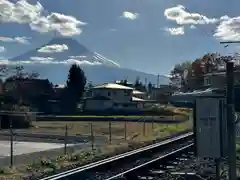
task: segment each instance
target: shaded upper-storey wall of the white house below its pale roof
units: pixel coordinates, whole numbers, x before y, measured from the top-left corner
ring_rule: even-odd
[[[132,100],[132,90],[122,89],[92,89],[92,96],[105,96],[118,103],[128,103]]]

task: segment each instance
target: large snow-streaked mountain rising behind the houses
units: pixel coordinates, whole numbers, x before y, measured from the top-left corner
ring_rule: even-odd
[[[71,38],[54,38],[41,47],[12,58],[9,63],[23,63],[26,70],[37,71],[42,78],[48,78],[54,84],[64,83],[72,63],[79,64],[87,80],[101,84],[127,78],[134,82],[137,77],[142,81],[156,84],[157,76],[144,72],[121,68],[103,55],[92,52],[77,40]],[[159,77],[160,84],[169,84],[169,78]]]

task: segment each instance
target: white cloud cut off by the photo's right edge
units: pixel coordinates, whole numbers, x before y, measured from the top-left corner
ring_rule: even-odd
[[[217,26],[213,36],[224,41],[240,40],[240,16],[233,18],[222,17],[222,21]]]

